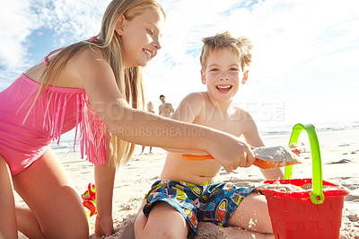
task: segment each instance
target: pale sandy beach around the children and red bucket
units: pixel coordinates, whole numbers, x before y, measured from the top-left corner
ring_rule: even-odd
[[[266,146],[287,146],[290,138],[288,132],[268,133],[263,135]],[[317,130],[320,142],[322,177],[324,181],[346,187],[350,194],[345,197],[340,238],[359,238],[359,128],[340,128]],[[311,178],[311,148],[306,133],[303,132],[298,140],[302,147],[300,160],[302,164],[293,166],[292,178]],[[81,195],[87,190],[89,182],[94,183],[93,165],[80,158],[79,150],[71,152],[68,147],[55,147],[66,171],[70,174],[74,188]],[[108,238],[133,238],[133,221],[136,212],[151,188],[154,181],[159,179],[166,151],[153,147],[153,154],[148,154],[145,147],[144,155],[140,155],[141,146],[131,160],[122,165],[116,174],[114,188],[113,218],[116,233]],[[232,181],[238,186],[258,186],[264,181],[258,167],[239,168],[233,173],[224,170],[218,177],[219,181]],[[17,204],[23,201],[15,195]],[[94,233],[95,217],[90,218],[90,232]],[[199,224],[196,238],[274,238],[274,235],[262,235],[243,230],[238,227],[220,227],[209,223]],[[20,238],[26,238],[19,233]],[[90,235],[90,238],[96,238]]]

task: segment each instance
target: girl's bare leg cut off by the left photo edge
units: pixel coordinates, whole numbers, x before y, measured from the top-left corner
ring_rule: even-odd
[[[13,183],[8,165],[0,155],[0,238],[17,238]]]

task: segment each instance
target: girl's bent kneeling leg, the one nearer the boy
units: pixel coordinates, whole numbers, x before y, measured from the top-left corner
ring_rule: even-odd
[[[40,232],[31,230],[31,234],[39,234],[33,237],[88,238],[89,226],[81,199],[51,148],[15,175],[13,185],[31,209],[18,208],[19,230],[25,235],[29,228],[37,228],[37,221]]]

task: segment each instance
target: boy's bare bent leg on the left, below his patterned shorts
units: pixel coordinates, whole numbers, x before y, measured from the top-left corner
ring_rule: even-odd
[[[188,223],[179,211],[166,202],[157,202],[148,217],[144,216],[142,208],[138,211],[135,221],[135,237],[143,238],[187,238]]]

